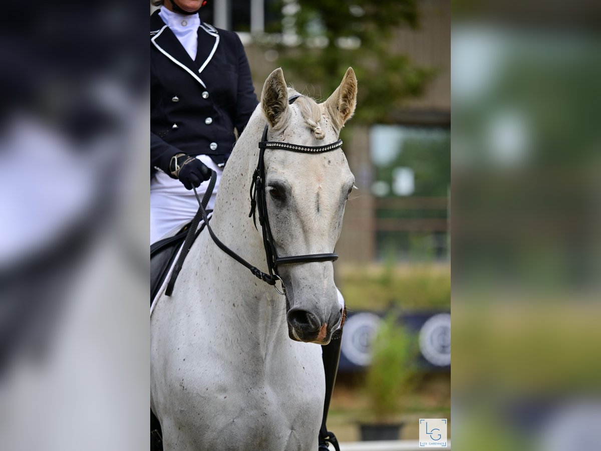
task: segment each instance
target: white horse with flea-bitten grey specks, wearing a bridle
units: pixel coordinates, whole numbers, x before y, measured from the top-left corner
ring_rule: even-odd
[[[351,68],[319,105],[288,105],[281,69],[222,175],[211,225],[243,259],[266,271],[261,228],[249,219],[258,141],[334,143],[355,111]],[[355,179],[342,149],[264,153],[267,211],[279,256],[332,253]],[[170,297],[151,315],[151,409],[171,450],[317,450],[325,395],[322,350],[340,326],[331,261],[282,265],[286,297],[202,233]],[[303,343],[304,342],[304,343]]]

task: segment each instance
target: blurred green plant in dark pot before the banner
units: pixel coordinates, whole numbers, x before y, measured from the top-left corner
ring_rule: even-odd
[[[417,382],[417,353],[415,337],[398,323],[397,314],[388,314],[371,342],[364,389],[373,422],[360,423],[362,440],[398,440],[402,399]]]

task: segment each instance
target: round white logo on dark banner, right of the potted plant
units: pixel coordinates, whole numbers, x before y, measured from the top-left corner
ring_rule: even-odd
[[[419,350],[436,366],[451,364],[451,315],[439,313],[427,319],[419,331]]]

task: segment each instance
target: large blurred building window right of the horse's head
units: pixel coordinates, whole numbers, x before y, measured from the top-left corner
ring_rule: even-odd
[[[377,259],[448,258],[450,155],[448,128],[371,127]]]

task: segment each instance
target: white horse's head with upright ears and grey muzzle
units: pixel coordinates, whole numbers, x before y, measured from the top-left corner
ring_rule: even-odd
[[[269,123],[269,141],[323,146],[338,140],[353,115],[357,80],[349,67],[340,86],[323,103],[300,96],[292,104],[281,69],[267,78],[261,108]],[[343,150],[306,153],[266,149],[265,198],[279,257],[333,253],[340,237],[344,206],[355,177]],[[288,335],[325,345],[342,321],[331,261],[278,265],[285,287]]]

